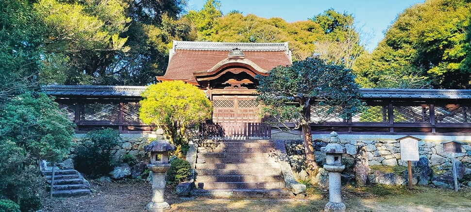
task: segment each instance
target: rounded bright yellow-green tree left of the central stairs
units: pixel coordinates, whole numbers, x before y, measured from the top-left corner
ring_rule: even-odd
[[[175,145],[185,144],[185,130],[211,117],[211,101],[194,85],[181,81],[149,85],[142,94],[139,117],[164,130]]]

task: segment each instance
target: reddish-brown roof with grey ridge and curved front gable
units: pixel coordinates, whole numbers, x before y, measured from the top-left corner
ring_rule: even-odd
[[[235,50],[237,52],[232,52]],[[226,82],[232,73],[236,81],[266,75],[278,65],[291,65],[291,51],[287,43],[218,43],[174,41],[169,63],[159,81],[182,80],[203,88],[210,86],[209,80],[222,76]],[[240,74],[244,72],[245,74]],[[215,78],[216,77],[216,78]]]

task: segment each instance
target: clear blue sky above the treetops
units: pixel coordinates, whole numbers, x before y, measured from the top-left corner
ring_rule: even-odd
[[[425,0],[220,0],[221,10],[227,14],[238,10],[242,14],[261,17],[281,17],[287,22],[306,20],[334,8],[355,16],[357,26],[372,37],[367,49],[373,50],[384,37],[387,29],[398,14],[413,4]],[[200,10],[206,0],[188,0],[189,10]]]

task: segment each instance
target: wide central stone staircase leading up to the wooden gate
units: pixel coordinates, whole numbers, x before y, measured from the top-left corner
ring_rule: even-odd
[[[208,140],[199,144],[195,196],[293,196],[285,189],[280,164],[270,140]]]

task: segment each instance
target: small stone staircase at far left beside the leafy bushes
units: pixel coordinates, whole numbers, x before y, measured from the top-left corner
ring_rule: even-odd
[[[52,170],[43,171],[48,184],[51,183]],[[52,196],[82,196],[90,194],[90,184],[75,169],[54,170],[54,187]]]

